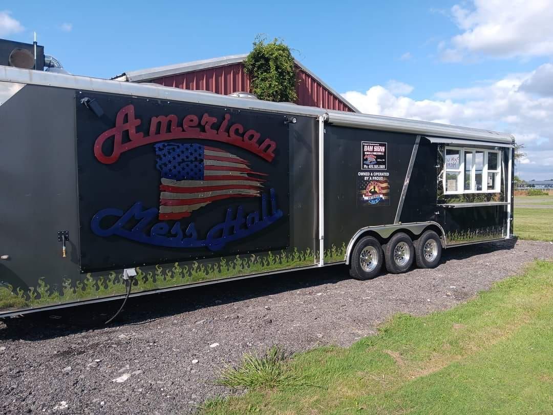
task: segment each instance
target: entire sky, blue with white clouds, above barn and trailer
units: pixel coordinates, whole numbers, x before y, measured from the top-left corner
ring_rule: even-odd
[[[31,42],[36,31],[46,53],[67,70],[96,77],[247,53],[258,33],[280,37],[296,50],[296,59],[364,112],[513,132],[528,149],[519,173],[549,179],[553,91],[542,94],[544,85],[532,76],[541,68],[549,85],[550,3],[281,1],[229,7],[218,1],[4,0],[0,37]],[[529,27],[538,34],[527,34]],[[513,85],[505,88],[505,82]],[[521,87],[532,82],[534,89]],[[516,108],[498,110],[509,106]]]

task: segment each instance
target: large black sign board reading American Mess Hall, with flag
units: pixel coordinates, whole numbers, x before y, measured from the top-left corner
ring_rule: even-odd
[[[86,97],[104,115],[77,103],[84,271],[289,245],[281,116]]]

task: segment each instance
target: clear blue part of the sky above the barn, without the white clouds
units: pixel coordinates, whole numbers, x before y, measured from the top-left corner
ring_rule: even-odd
[[[46,53],[71,73],[97,77],[247,53],[258,33],[283,38],[296,49],[296,58],[337,91],[397,79],[416,85],[413,97],[424,98],[531,70],[534,60],[543,60],[468,66],[441,62],[437,44],[457,33],[446,14],[455,2],[380,2],[378,7],[340,2],[339,8],[335,2],[259,3],[229,8],[228,2],[214,1],[204,9],[196,2],[81,2],[77,8],[74,1],[8,1],[2,8],[25,27],[12,39],[30,42],[36,31]],[[405,53],[411,59],[402,60]]]

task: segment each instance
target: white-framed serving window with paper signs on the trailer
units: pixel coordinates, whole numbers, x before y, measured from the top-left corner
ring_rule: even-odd
[[[444,193],[499,193],[501,152],[477,148],[445,148]]]

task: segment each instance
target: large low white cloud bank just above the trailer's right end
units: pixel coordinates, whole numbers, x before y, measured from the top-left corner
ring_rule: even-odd
[[[513,133],[527,153],[518,163],[518,174],[524,179],[549,179],[553,177],[553,96],[536,96],[528,90],[528,85],[541,85],[548,68],[542,65],[533,72],[437,92],[425,100],[406,97],[401,93],[406,90],[390,89],[390,84],[342,95],[366,113]]]

